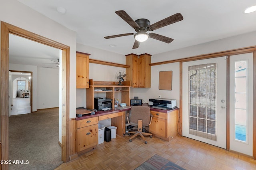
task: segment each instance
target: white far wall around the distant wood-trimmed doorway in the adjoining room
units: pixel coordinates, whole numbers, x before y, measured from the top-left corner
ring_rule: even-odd
[[[20,65],[20,64],[9,64],[9,69],[14,71],[31,71],[33,79],[33,101],[32,101],[32,111],[36,112],[37,110],[37,67],[34,65]]]

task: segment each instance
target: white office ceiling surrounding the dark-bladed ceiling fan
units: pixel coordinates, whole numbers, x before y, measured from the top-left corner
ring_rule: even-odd
[[[256,5],[255,0],[18,1],[76,31],[77,43],[122,55],[129,53],[149,53],[154,55],[256,31],[256,12],[244,13],[247,7]],[[57,7],[66,8],[66,14],[58,13]],[[132,49],[134,44],[133,36],[104,39],[104,36],[136,33],[130,25],[115,13],[117,10],[125,10],[133,20],[146,18],[150,20],[151,24],[178,12],[182,14],[184,20],[152,31],[153,33],[173,38],[173,42],[164,43],[149,38],[146,42],[140,43],[138,49]],[[110,47],[110,44],[115,44],[116,47]],[[32,46],[29,49],[33,49]],[[34,51],[33,55],[28,57],[34,57],[36,54],[38,52]],[[15,55],[17,57],[19,54],[16,53]],[[44,55],[49,60],[58,58],[52,53]],[[32,61],[32,58],[30,60]]]

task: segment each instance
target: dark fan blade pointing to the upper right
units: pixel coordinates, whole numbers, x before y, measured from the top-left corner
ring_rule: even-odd
[[[173,24],[175,22],[183,20],[183,16],[180,13],[174,14],[172,16],[169,16],[161,21],[158,21],[148,27],[149,31],[154,31],[158,28],[162,28],[164,26],[168,26],[170,24]]]

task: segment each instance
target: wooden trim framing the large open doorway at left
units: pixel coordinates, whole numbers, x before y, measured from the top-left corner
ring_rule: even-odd
[[[8,160],[8,83],[9,83],[9,33],[29,40],[39,42],[62,50],[62,71],[66,75],[62,81],[62,160],[68,162],[70,138],[69,138],[69,89],[70,89],[70,47],[54,40],[50,40],[38,34],[34,34],[22,28],[1,21],[1,90],[0,90],[0,115],[1,115],[1,159]],[[64,97],[63,97],[64,96]],[[8,165],[1,165],[2,169],[8,169]]]

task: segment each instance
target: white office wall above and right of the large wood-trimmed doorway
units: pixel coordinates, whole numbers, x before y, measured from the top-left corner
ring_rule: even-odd
[[[0,20],[70,47],[69,108],[70,118],[76,117],[76,32],[54,22],[17,0],[1,0]]]

